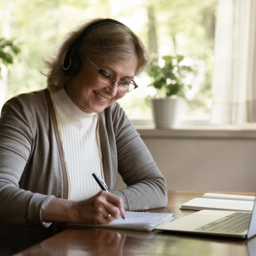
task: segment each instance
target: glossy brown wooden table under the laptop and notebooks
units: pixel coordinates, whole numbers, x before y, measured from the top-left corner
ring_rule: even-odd
[[[242,193],[239,193],[242,194]],[[151,212],[174,213],[181,218],[193,211],[179,210],[180,205],[202,192],[168,192],[166,208]],[[244,193],[254,195],[254,193]],[[34,245],[15,256],[130,256],[130,255],[196,255],[196,256],[242,256],[256,255],[256,236],[241,240],[234,238],[202,236],[166,231],[125,231],[118,229],[98,229],[71,227],[40,244]]]

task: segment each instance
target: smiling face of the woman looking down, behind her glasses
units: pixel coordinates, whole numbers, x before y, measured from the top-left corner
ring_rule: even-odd
[[[116,79],[121,81],[131,81],[138,65],[136,59],[105,60],[102,63],[97,63],[97,60],[92,61],[100,69],[113,74]],[[102,84],[99,82],[99,76],[97,68],[89,60],[83,58],[79,73],[70,77],[64,86],[70,99],[84,112],[102,112],[125,96],[125,92],[117,90],[117,81],[111,85]]]

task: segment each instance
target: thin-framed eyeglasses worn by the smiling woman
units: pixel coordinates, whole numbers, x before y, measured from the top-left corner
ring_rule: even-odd
[[[129,81],[121,81],[115,78],[112,74],[108,73],[107,71],[104,71],[100,69],[95,63],[93,63],[89,58],[87,58],[90,63],[92,63],[95,68],[98,69],[98,73],[100,74],[99,79],[102,84],[107,84],[108,86],[112,85],[117,81],[117,90],[119,92],[131,92],[131,90],[134,90],[138,88],[136,82],[134,80]]]

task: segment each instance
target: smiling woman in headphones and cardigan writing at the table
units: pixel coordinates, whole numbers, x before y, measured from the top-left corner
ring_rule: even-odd
[[[138,87],[134,77],[147,61],[128,27],[93,20],[69,33],[47,61],[47,89],[6,102],[0,222],[8,241],[15,234],[24,248],[50,236],[52,223],[108,223],[125,218],[125,210],[166,205],[166,181],[116,103]],[[117,173],[127,185],[122,190],[115,190]]]

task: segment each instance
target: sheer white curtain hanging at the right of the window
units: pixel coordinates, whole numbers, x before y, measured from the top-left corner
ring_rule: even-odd
[[[256,1],[219,0],[211,122],[256,121]]]

